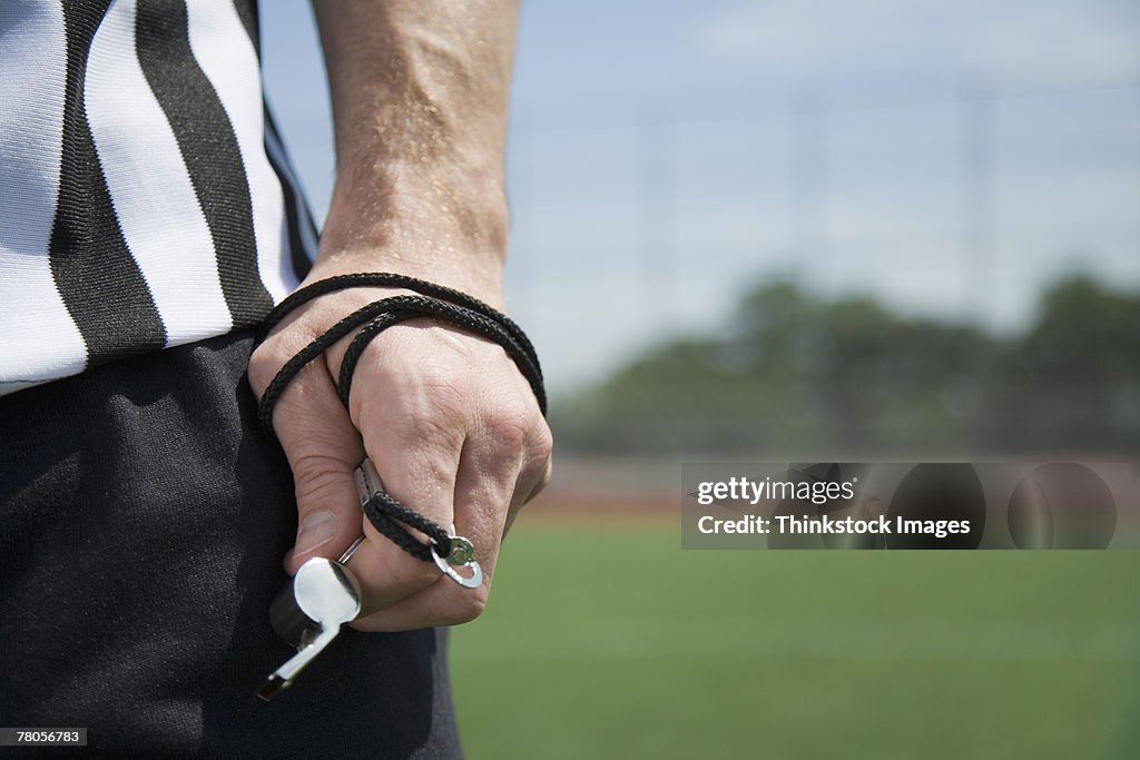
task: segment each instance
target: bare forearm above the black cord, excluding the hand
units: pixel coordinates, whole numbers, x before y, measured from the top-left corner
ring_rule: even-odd
[[[316,0],[337,178],[318,270],[393,270],[498,301],[514,0]]]

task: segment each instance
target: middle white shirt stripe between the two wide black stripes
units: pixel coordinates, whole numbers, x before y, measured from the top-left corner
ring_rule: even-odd
[[[213,239],[170,123],[135,55],[136,0],[115,0],[91,43],[87,117],[127,247],[166,345],[233,326]]]

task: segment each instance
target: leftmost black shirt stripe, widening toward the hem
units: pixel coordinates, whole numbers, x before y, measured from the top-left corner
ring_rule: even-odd
[[[48,243],[51,276],[83,336],[89,367],[166,344],[154,299],[119,227],[83,105],[91,40],[109,5],[64,3],[63,155]]]

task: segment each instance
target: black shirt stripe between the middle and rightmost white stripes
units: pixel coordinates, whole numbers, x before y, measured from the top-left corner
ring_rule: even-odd
[[[261,321],[272,299],[258,271],[250,185],[234,128],[190,50],[186,5],[140,0],[135,25],[139,64],[166,114],[218,258],[235,327]]]

